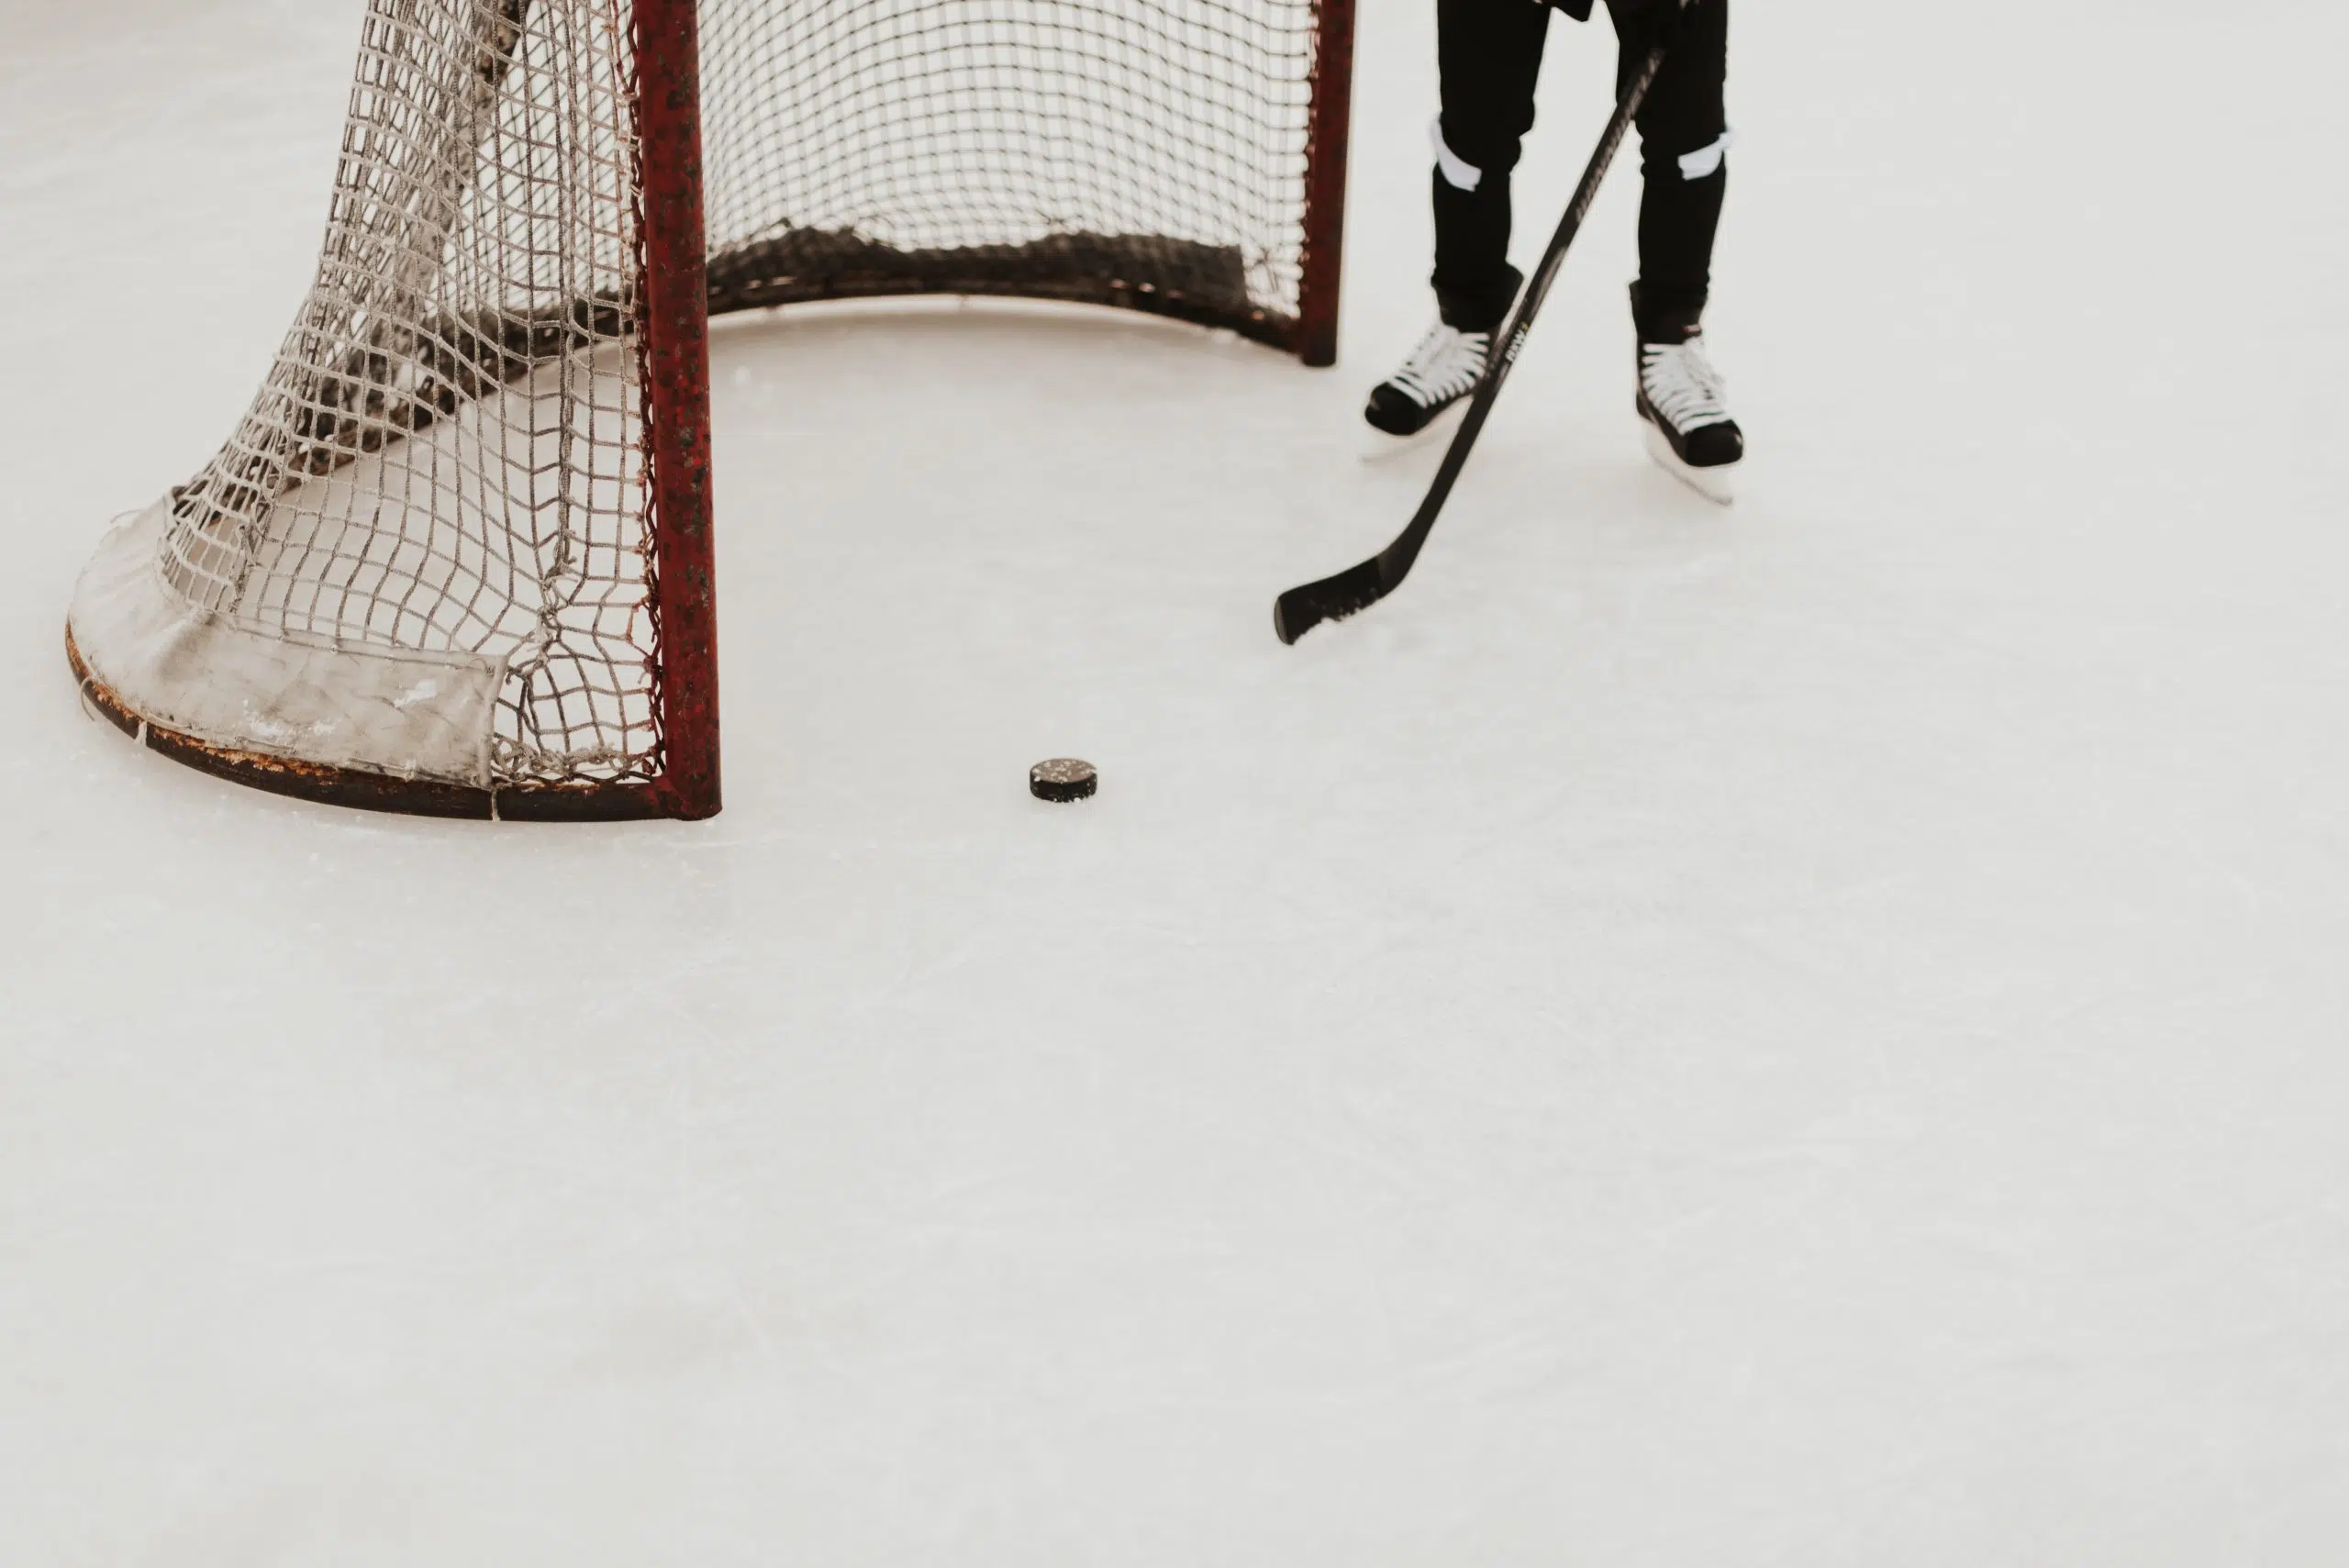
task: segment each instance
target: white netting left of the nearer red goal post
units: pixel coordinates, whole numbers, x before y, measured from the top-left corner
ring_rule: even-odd
[[[164,577],[505,660],[500,779],[655,765],[622,0],[373,0],[317,286]]]

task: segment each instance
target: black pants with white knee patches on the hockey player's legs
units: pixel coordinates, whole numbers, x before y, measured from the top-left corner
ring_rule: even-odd
[[[1665,0],[1670,2],[1670,0]],[[1438,0],[1445,113],[1435,134],[1435,298],[1445,319],[1489,331],[1522,282],[1508,265],[1508,174],[1534,129],[1534,82],[1550,7],[1539,0]],[[1616,23],[1618,87],[1644,63],[1637,28]],[[1712,235],[1729,188],[1729,0],[1696,0],[1640,110],[1642,338],[1684,336],[1705,310]]]

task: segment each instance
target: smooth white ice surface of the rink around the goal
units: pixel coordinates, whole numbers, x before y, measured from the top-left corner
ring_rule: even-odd
[[[728,810],[594,829],[66,674],[357,16],[0,0],[0,1566],[2349,1556],[2342,7],[1741,0],[1745,502],[1640,451],[1623,169],[1283,648],[1438,455],[1355,460],[1433,106],[1365,0],[1339,371],[719,329]]]

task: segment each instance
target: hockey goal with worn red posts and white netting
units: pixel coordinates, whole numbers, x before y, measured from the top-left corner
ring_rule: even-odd
[[[85,573],[85,690],[289,793],[716,810],[698,317],[1019,293],[1327,361],[1346,5],[369,0],[317,282]]]

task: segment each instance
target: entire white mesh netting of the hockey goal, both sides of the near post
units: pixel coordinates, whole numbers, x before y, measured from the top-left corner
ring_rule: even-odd
[[[1299,312],[1313,0],[705,0],[712,310]],[[369,0],[317,282],[171,500],[226,624],[503,669],[496,784],[660,772],[627,0]]]

